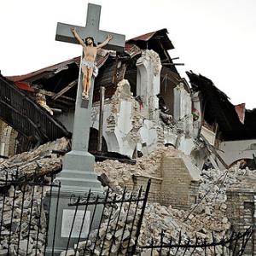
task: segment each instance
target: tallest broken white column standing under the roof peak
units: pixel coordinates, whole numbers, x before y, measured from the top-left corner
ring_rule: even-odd
[[[137,60],[137,96],[140,96],[143,108],[143,120],[140,130],[141,143],[138,150],[148,154],[163,142],[163,135],[159,129],[159,98],[160,93],[161,62],[154,50],[143,50],[142,56]]]

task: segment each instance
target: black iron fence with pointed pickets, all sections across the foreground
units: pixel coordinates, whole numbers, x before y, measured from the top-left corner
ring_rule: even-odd
[[[58,205],[61,185],[52,181],[53,177],[37,177],[36,173],[34,177],[20,178],[16,174],[10,178],[6,172],[6,177],[0,178],[1,255],[56,255],[58,214],[51,216],[55,222],[50,229],[48,214],[53,191]],[[253,228],[220,240],[214,234],[210,240],[196,236],[184,240],[181,232],[173,240],[162,231],[160,242],[152,238],[147,246],[138,246],[149,189],[150,180],[145,190],[141,187],[136,192],[107,189],[101,196],[91,191],[84,197],[72,195],[66,208],[72,209],[73,217],[61,255],[244,255]],[[48,230],[54,236],[50,236],[53,247],[46,253]]]

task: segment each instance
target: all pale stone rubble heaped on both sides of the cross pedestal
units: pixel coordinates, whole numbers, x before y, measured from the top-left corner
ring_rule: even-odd
[[[47,143],[31,153],[24,153],[16,155],[12,159],[5,160],[0,165],[1,173],[3,170],[15,170],[18,166],[21,173],[34,172],[35,168],[41,166],[40,172],[44,173],[45,166],[54,161],[54,168],[61,166],[61,156],[53,154],[52,150],[66,150],[68,147],[67,139],[59,139],[54,143]],[[132,180],[133,175],[143,175],[148,177],[157,177],[163,156],[180,157],[182,153],[172,147],[163,147],[152,152],[148,156],[143,156],[137,159],[137,164],[131,166],[125,163],[119,163],[118,160],[105,160],[96,163],[95,169],[98,174],[104,173],[108,177],[109,184],[113,188],[113,193],[121,195],[123,188]],[[44,162],[45,160],[45,162]],[[32,165],[32,163],[37,164]],[[27,165],[29,165],[26,167]],[[32,168],[32,170],[30,170]],[[49,171],[49,166],[47,167]],[[173,242],[177,242],[179,232],[182,234],[183,241],[195,241],[195,236],[200,239],[212,239],[212,231],[215,234],[215,239],[220,240],[229,233],[230,221],[227,215],[226,204],[226,189],[231,185],[240,183],[241,178],[247,175],[247,170],[238,168],[231,168],[229,171],[220,171],[216,169],[208,169],[201,172],[201,184],[199,187],[199,195],[197,202],[189,209],[175,209],[170,206],[162,206],[159,203],[148,202],[144,212],[142,229],[138,240],[138,247],[149,245],[153,241],[160,243],[161,231],[165,230],[165,241],[172,238]],[[34,200],[30,200],[32,195],[32,188],[26,188],[26,200],[22,201],[22,191],[15,190],[10,186],[7,195],[5,195],[4,211],[3,211],[3,226],[1,230],[1,252],[9,250],[17,252],[19,245],[19,255],[44,255],[45,237],[46,237],[46,218],[44,210],[42,210],[41,199],[42,193],[45,191],[36,187],[34,189]],[[15,201],[13,201],[15,195]],[[113,194],[111,194],[113,197]],[[12,236],[9,240],[9,228],[11,223],[11,207],[15,205],[15,221],[11,224]],[[106,208],[104,212],[105,220],[102,222],[100,230],[93,230],[88,237],[88,241],[80,241],[73,249],[69,249],[67,255],[79,255],[81,252],[91,252],[95,248],[95,255],[101,253],[107,255],[111,248],[111,255],[125,255],[127,247],[134,245],[135,230],[131,229],[136,204],[131,203],[129,208],[128,218],[126,220],[126,212],[128,203],[117,207],[112,219],[110,220],[110,228],[106,231],[108,226],[108,216],[110,209]],[[0,195],[0,206],[3,207],[3,195]],[[21,207],[23,212],[21,214]],[[119,212],[121,212],[118,217]],[[2,214],[2,213],[1,213]],[[135,226],[138,222],[138,217],[135,219]],[[2,216],[0,216],[2,218]],[[32,219],[29,225],[29,219]],[[119,218],[119,221],[118,221]],[[125,229],[125,230],[124,230]],[[96,241],[96,234],[99,231],[99,238]],[[30,233],[30,238],[28,237]],[[20,236],[20,237],[19,237]],[[129,238],[131,236],[131,239]],[[38,239],[37,239],[38,237]],[[102,240],[105,238],[105,243],[102,245]],[[38,241],[37,241],[38,240]],[[86,244],[86,248],[85,247]],[[201,249],[197,249],[197,254],[201,255]],[[65,252],[66,253],[66,252]],[[64,253],[64,255],[65,255]],[[141,252],[137,252],[139,255]],[[171,252],[172,255],[173,252]],[[63,253],[62,253],[63,255]],[[147,255],[147,250],[141,255]],[[154,251],[154,255],[158,255]],[[187,255],[186,253],[183,255]],[[190,254],[188,254],[190,255]]]

